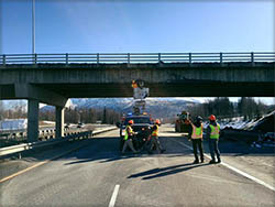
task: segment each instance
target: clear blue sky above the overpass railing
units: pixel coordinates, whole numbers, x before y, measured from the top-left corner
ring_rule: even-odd
[[[0,53],[32,53],[32,0],[0,0]],[[36,0],[36,53],[274,51],[274,0]]]

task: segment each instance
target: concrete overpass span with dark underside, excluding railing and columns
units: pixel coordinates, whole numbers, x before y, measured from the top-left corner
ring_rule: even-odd
[[[132,97],[132,79],[143,79],[151,97],[273,97],[274,66],[274,63],[6,65],[0,66],[0,98],[29,98],[34,90],[64,98]]]

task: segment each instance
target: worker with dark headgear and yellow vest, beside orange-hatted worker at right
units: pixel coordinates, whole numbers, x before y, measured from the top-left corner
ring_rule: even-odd
[[[202,149],[202,131],[204,131],[204,126],[202,126],[202,118],[201,117],[196,117],[195,123],[190,122],[193,127],[191,134],[189,134],[189,140],[193,142],[193,150],[194,150],[194,155],[195,155],[195,161],[194,164],[199,163],[199,157],[198,157],[198,150],[200,153],[200,162],[205,162],[204,157],[204,149]]]

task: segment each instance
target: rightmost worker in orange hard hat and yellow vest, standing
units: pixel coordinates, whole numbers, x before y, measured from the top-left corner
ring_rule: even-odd
[[[211,161],[209,162],[210,164],[216,163],[216,157],[215,155],[217,155],[218,162],[221,162],[220,159],[220,151],[218,148],[218,143],[219,143],[219,138],[220,138],[220,124],[217,123],[216,117],[213,115],[211,115],[209,117],[209,126],[207,128],[207,138],[209,139],[209,150],[210,150],[210,154],[211,154]]]

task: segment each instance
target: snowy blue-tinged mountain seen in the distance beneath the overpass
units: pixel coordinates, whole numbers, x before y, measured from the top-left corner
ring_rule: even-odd
[[[201,103],[202,99],[195,98],[146,98],[146,111],[156,118],[174,118],[187,106]],[[131,112],[133,108],[133,98],[73,98],[70,99],[72,108],[95,108],[95,109],[113,109],[120,112]],[[25,100],[4,101],[6,109],[15,109],[16,106],[26,108]],[[53,106],[42,106],[41,111],[51,111]]]

